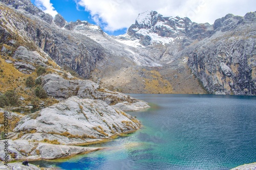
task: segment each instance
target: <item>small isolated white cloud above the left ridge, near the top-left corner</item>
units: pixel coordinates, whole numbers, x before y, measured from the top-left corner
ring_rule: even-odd
[[[58,14],[58,12],[52,6],[53,4],[50,3],[50,0],[35,0],[35,5],[45,13],[48,13],[52,16]]]

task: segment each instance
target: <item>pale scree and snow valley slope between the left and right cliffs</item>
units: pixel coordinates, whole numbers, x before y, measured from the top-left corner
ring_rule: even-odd
[[[108,60],[97,62],[97,69],[91,75],[92,80],[102,86],[127,93],[205,93],[191,74],[187,60],[176,58],[176,53],[182,49],[182,36],[174,40],[177,42],[174,45],[164,45],[160,41],[143,45],[144,39],[141,41],[137,35],[111,37],[90,29],[92,26],[86,23],[75,27],[74,31],[87,35],[109,50]],[[164,40],[161,36],[157,39]],[[174,38],[166,38],[164,42],[168,39]]]

